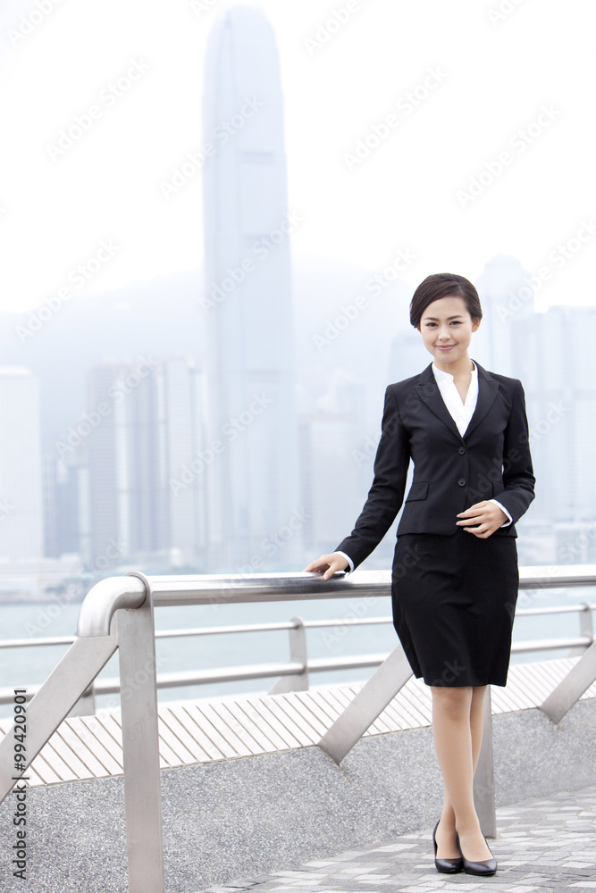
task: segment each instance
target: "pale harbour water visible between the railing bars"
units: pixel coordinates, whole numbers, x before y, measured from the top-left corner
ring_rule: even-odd
[[[518,608],[576,605],[583,601],[596,603],[595,588],[536,590],[520,593]],[[76,632],[80,605],[0,605],[0,638],[35,638],[71,636]],[[390,617],[390,597],[315,599],[312,601],[205,605],[157,608],[157,630],[214,627],[244,623],[288,621],[292,617],[304,620],[350,619],[357,617]],[[560,638],[579,635],[577,613],[551,614],[545,617],[517,617],[514,641],[537,638]],[[333,626],[306,630],[309,658],[358,654],[388,653],[397,642],[390,623],[360,627]],[[0,687],[24,688],[40,683],[53,670],[68,646],[0,649]],[[252,663],[285,662],[290,659],[288,630],[249,632],[189,638],[157,639],[155,643],[157,672],[213,669]],[[538,661],[567,656],[561,651],[533,652],[513,655],[512,663]],[[365,681],[374,667],[362,670],[341,670],[310,674],[311,685],[341,684]],[[113,656],[99,678],[118,677],[118,656]],[[248,692],[266,692],[275,678],[210,683],[161,689],[159,699],[214,697]],[[97,698],[98,707],[119,705],[117,695]],[[0,705],[0,717],[12,715],[11,705]]]

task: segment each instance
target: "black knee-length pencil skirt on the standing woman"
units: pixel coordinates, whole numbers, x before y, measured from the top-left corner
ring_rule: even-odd
[[[516,538],[406,533],[391,571],[393,625],[427,685],[506,685],[519,573]]]

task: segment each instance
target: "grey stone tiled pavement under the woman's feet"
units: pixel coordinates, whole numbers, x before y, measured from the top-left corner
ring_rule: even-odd
[[[490,840],[499,871],[491,878],[434,869],[431,830],[370,848],[315,859],[202,893],[432,893],[490,889],[502,893],[596,890],[596,787],[525,800],[497,810]]]

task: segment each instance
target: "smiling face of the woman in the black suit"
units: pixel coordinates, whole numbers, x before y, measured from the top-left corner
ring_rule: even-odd
[[[463,297],[440,297],[429,304],[418,331],[424,346],[441,364],[456,363],[466,355],[472,332],[480,325],[473,320]]]

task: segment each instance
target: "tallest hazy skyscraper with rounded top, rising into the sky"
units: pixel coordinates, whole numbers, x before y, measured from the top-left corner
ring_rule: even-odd
[[[206,54],[203,167],[214,570],[294,570],[301,531],[283,102],[273,29],[228,9]],[[273,545],[272,545],[273,543]],[[263,562],[263,563],[261,563]]]

